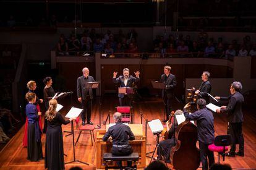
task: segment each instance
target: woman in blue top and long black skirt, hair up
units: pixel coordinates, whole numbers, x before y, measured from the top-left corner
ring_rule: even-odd
[[[26,114],[28,117],[28,147],[27,147],[27,159],[30,161],[38,161],[43,159],[42,143],[41,143],[41,130],[38,122],[38,118],[41,115],[37,111],[35,104],[35,93],[28,92],[26,94],[28,104],[26,106]]]

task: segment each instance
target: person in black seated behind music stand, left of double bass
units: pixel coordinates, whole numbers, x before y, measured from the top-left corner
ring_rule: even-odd
[[[182,114],[182,113],[183,113],[183,111],[177,110],[174,113],[174,115],[179,115],[179,114]],[[175,129],[177,129],[177,126],[178,126],[178,124],[177,124],[176,118],[172,117],[171,122],[169,122],[169,121],[166,122],[166,129],[167,129],[167,132],[168,132],[168,139],[162,140],[159,143],[160,148],[157,148],[157,153],[156,153],[158,156],[154,159],[161,159],[161,156],[163,156],[166,163],[171,163],[171,161],[170,161],[171,147],[174,147],[174,145],[176,144],[176,139],[174,141],[174,127],[175,127]]]

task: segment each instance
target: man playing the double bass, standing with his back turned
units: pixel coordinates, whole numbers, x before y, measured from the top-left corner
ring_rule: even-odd
[[[189,114],[187,109],[190,104],[184,106],[184,116],[186,121],[197,121],[197,139],[199,142],[200,158],[202,162],[202,169],[211,168],[215,163],[213,151],[208,150],[208,145],[214,143],[214,117],[211,111],[206,108],[206,101],[203,98],[197,100],[197,111]],[[208,161],[207,161],[208,158]]]

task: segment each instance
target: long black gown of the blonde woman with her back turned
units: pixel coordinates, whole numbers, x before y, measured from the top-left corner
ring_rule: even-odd
[[[45,142],[45,168],[65,169],[62,138],[62,124],[68,124],[61,113],[56,113],[52,121],[48,121]]]

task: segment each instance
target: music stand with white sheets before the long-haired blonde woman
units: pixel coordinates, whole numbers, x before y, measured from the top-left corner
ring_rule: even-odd
[[[67,113],[65,117],[67,117],[67,118],[78,117],[82,113],[82,111],[83,111],[83,109],[72,107],[69,110],[69,113]],[[69,161],[69,162],[67,162],[65,164],[79,162],[79,163],[83,163],[83,164],[89,165],[88,163],[85,163],[83,161],[79,161],[78,159],[75,159],[75,137],[74,137],[74,123],[73,123],[73,120],[71,121],[71,134],[72,134],[72,140],[73,140],[73,161]]]

